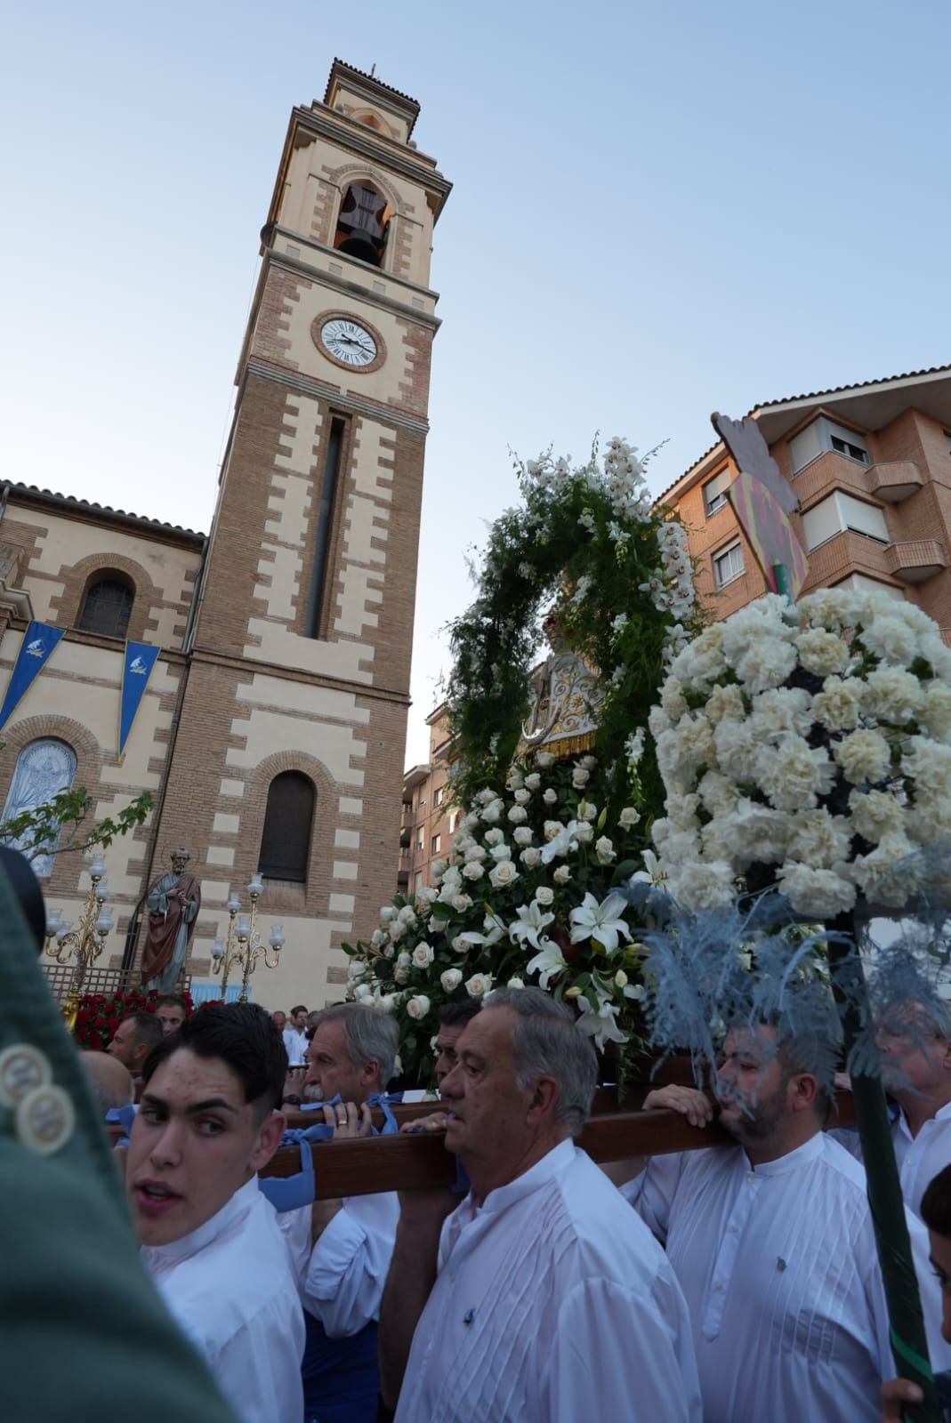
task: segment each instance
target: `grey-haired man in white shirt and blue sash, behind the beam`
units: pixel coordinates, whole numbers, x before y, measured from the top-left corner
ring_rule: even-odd
[[[313,1015],[313,1022],[305,1083],[326,1103],[323,1117],[335,1141],[369,1136],[369,1100],[393,1076],[396,1020],[383,1009],[339,1003]],[[306,1417],[376,1420],[377,1319],[399,1215],[396,1192],[384,1191],[317,1201],[313,1210],[282,1217],[308,1326]]]

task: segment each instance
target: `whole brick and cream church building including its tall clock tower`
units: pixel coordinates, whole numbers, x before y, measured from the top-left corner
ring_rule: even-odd
[[[438,329],[430,249],[450,192],[413,142],[417,114],[339,60],[323,102],[292,112],[206,536],[3,492],[0,676],[30,619],[64,630],[0,731],[6,814],[70,783],[97,817],[155,797],[105,854],[114,968],[141,956],[142,899],[178,845],[202,884],[199,983],[229,894],[248,909],[262,874],[259,935],[279,922],[285,936],[280,966],[252,979],[268,1006],[340,998],[337,945],[392,895]],[[120,760],[127,638],[161,650]],[[47,904],[78,919],[83,864],[41,869]]]

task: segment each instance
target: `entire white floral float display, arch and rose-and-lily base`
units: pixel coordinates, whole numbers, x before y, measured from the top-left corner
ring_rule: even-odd
[[[651,507],[643,470],[618,438],[581,468],[518,464],[522,505],[493,525],[453,623],[464,815],[434,884],[345,945],[347,993],[396,1015],[407,1080],[431,1077],[438,1007],[494,986],[538,983],[574,1002],[598,1047],[641,1046],[641,919],[619,885],[651,872],[662,783],[645,723],[699,628],[683,529]],[[540,675],[542,616],[555,653]]]

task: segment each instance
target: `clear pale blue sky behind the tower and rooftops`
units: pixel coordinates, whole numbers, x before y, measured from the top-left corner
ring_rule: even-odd
[[[4,17],[3,475],[209,527],[288,117],[335,54],[419,98],[453,181],[407,757],[514,499],[709,411],[951,359],[947,0],[245,0]]]

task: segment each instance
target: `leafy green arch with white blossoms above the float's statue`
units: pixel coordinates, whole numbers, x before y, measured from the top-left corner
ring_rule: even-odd
[[[651,507],[648,458],[638,460],[636,450],[615,438],[604,465],[597,447],[574,470],[551,454],[515,462],[524,502],[491,527],[476,601],[450,629],[447,703],[461,805],[480,787],[505,780],[531,700],[545,612],[601,679],[594,750],[602,795],[616,804],[629,798],[634,771],[625,746],[646,726],[665,653],[696,628],[686,544],[671,511]],[[642,800],[659,807],[663,790],[651,748],[636,774]]]

